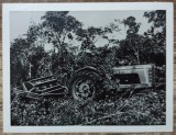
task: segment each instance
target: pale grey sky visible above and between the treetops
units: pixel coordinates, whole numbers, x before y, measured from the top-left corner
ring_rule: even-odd
[[[147,31],[152,23],[147,23],[147,19],[143,16],[145,11],[70,11],[69,15],[75,16],[78,21],[84,23],[84,27],[88,26],[107,26],[114,20],[123,20],[128,16],[134,16],[136,22],[141,23],[139,34],[143,34]],[[43,11],[18,11],[11,12],[10,16],[10,40],[13,42],[14,38],[24,36],[29,26],[33,23],[41,23],[41,16],[44,15]],[[125,27],[120,24],[120,32],[114,33],[113,36],[117,40],[125,38]],[[97,44],[101,45],[105,41],[101,40]]]

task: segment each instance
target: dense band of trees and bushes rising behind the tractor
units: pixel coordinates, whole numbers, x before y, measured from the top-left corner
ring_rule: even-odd
[[[11,43],[11,85],[16,87],[21,80],[41,76],[62,77],[72,74],[74,67],[85,65],[97,67],[109,64],[109,68],[135,64],[164,66],[165,11],[145,12],[144,16],[153,23],[151,30],[139,34],[141,24],[134,16],[129,16],[121,21],[128,26],[127,37],[119,41],[109,36],[121,31],[118,23],[86,30],[67,11],[46,12],[42,24],[29,27],[26,38],[16,38]],[[107,42],[99,47],[96,46],[98,40]]]

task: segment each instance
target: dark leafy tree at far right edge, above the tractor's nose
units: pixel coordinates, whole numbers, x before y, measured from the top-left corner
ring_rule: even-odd
[[[151,29],[144,33],[151,45],[151,57],[156,65],[165,65],[166,59],[166,11],[156,10],[144,13],[148,23],[153,23]]]

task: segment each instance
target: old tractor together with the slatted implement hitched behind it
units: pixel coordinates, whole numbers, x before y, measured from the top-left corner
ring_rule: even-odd
[[[20,95],[40,99],[41,97],[72,95],[75,100],[87,101],[98,98],[103,91],[123,91],[155,86],[154,65],[133,65],[113,67],[111,72],[99,71],[86,66],[74,71],[66,85],[55,77],[42,77],[21,82]]]

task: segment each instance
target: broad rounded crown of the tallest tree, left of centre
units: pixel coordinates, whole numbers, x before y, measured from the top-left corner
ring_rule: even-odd
[[[67,45],[68,40],[74,38],[74,34],[81,23],[74,16],[68,14],[68,11],[48,11],[42,16],[44,35],[48,43],[52,43],[62,55],[63,48]]]

